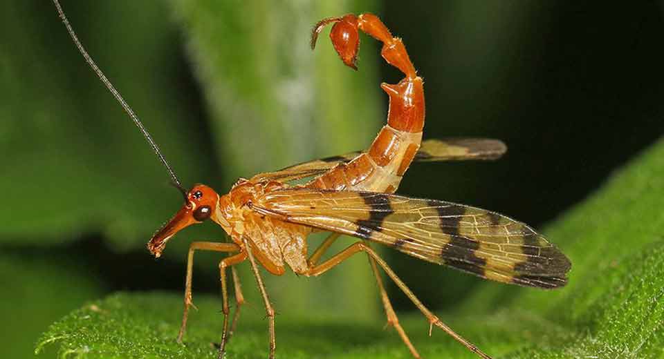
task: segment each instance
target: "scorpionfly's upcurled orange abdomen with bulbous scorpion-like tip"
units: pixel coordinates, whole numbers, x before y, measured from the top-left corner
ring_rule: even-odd
[[[417,76],[403,41],[392,37],[374,14],[347,14],[319,21],[313,28],[312,48],[320,31],[330,23],[334,23],[330,39],[344,64],[357,70],[358,30],[362,30],[382,41],[380,55],[388,64],[401,70],[405,77],[398,84],[380,85],[389,95],[387,124],[378,132],[369,149],[351,162],[331,168],[306,186],[392,193],[420,147],[425,117],[422,78]]]

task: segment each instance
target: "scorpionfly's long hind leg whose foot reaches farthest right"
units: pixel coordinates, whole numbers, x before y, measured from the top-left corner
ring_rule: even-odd
[[[389,278],[391,278],[391,280],[394,281],[397,287],[399,287],[399,289],[401,289],[401,291],[405,293],[405,295],[413,302],[413,304],[415,304],[415,307],[417,307],[417,309],[419,309],[423,313],[423,315],[427,317],[431,325],[435,325],[436,327],[443,329],[445,333],[448,333],[450,336],[452,336],[452,338],[457,340],[457,342],[460,342],[463,346],[468,348],[473,353],[476,353],[481,358],[491,359],[490,356],[488,356],[486,353],[483,353],[483,351],[479,350],[475,345],[468,342],[468,340],[465,340],[465,338],[463,338],[462,336],[459,336],[459,334],[455,333],[450,327],[445,325],[434,313],[432,313],[429,309],[427,309],[427,307],[425,307],[425,305],[422,304],[422,302],[420,302],[420,300],[407,287],[407,285],[402,280],[400,280],[400,278],[398,278],[396,273],[392,271],[392,269],[387,265],[385,260],[382,260],[382,258],[380,258],[380,256],[376,252],[374,252],[373,249],[369,248],[369,246],[367,246],[362,242],[357,242],[356,244],[352,244],[347,249],[344,249],[343,251],[333,255],[333,257],[330,258],[329,260],[326,260],[325,262],[308,269],[308,271],[306,271],[306,273],[304,274],[321,275],[322,273],[329,271],[334,266],[340,264],[347,258],[351,257],[351,255],[358,252],[366,252],[371,258],[376,260],[376,263],[380,265],[382,270],[385,271],[385,273],[387,273]]]

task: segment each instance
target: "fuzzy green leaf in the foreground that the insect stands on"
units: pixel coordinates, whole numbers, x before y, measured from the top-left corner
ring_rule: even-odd
[[[661,358],[664,355],[664,142],[616,173],[596,194],[546,230],[573,262],[568,287],[537,291],[486,282],[441,318],[497,358]],[[248,287],[245,285],[245,287]],[[81,358],[213,358],[219,300],[194,298],[186,345],[174,342],[182,302],[167,293],[119,293],[66,316],[42,336]],[[281,304],[281,305],[280,305]],[[299,313],[277,302],[277,352],[284,358],[408,358],[380,323],[352,313]],[[500,309],[495,309],[500,308]],[[259,313],[258,315],[256,313]],[[243,308],[229,358],[262,358],[266,323],[259,302]],[[252,317],[253,316],[253,317]],[[402,315],[427,358],[475,358],[427,322]],[[258,318],[258,319],[257,319]]]

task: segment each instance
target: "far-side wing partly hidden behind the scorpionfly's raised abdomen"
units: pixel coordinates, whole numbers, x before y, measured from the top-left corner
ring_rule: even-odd
[[[497,159],[507,151],[507,146],[497,139],[459,138],[427,139],[422,142],[415,155],[416,162],[459,161],[465,159]],[[340,163],[347,163],[362,151],[345,155],[325,157],[282,168],[279,171],[259,173],[254,181],[270,179],[279,182],[296,181],[306,177],[321,175]]]

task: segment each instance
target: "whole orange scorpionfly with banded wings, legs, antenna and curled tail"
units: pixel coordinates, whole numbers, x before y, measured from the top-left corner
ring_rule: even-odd
[[[566,284],[571,263],[553,244],[526,224],[480,208],[439,200],[394,195],[412,162],[459,159],[495,159],[506,147],[492,139],[450,139],[422,142],[425,119],[423,80],[418,77],[401,39],[393,37],[374,14],[347,14],[323,19],[313,28],[311,46],[328,25],[330,38],[347,66],[356,69],[359,32],[383,43],[381,55],[405,77],[398,84],[382,84],[389,95],[387,124],[367,151],[318,159],[239,179],[230,192],[219,195],[210,186],[196,184],[185,190],[138,117],[84,50],[58,0],[59,16],[89,65],[140,128],[172,182],[184,198],[182,208],[147,244],[159,257],[172,237],[192,224],[212,220],[228,233],[231,242],[192,242],[187,259],[184,311],[178,342],[183,339],[192,302],[192,264],[196,251],[230,253],[219,262],[223,300],[223,331],[219,357],[234,331],[243,304],[236,264],[248,260],[261,292],[268,318],[269,357],[275,357],[275,311],[263,284],[259,266],[282,275],[286,266],[299,275],[322,275],[356,253],[366,253],[376,276],[388,323],[415,358],[419,354],[400,326],[383,287],[379,268],[423,313],[481,358],[490,358],[445,325],[418,300],[387,263],[371,249],[383,244],[415,258],[445,264],[481,278],[526,287],[553,289]],[[304,184],[291,182],[311,177]],[[313,231],[331,234],[308,255],[307,236]],[[320,262],[339,235],[360,240]],[[229,329],[228,278],[231,269],[237,310]]]

